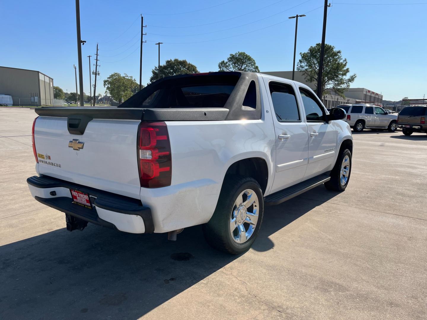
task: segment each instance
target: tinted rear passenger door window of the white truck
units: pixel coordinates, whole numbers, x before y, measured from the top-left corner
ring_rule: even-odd
[[[278,122],[301,122],[295,91],[289,84],[270,82],[270,94]]]

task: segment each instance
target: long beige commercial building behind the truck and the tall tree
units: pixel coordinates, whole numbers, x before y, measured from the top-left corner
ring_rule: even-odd
[[[292,71],[269,71],[262,72],[270,76],[292,79]],[[301,82],[316,91],[316,83],[307,82],[302,71],[295,71],[295,81]],[[383,96],[366,88],[350,88],[344,93],[345,97],[339,96],[334,92],[322,96],[322,102],[326,108],[335,108],[337,105],[354,104],[354,103],[371,103],[382,105]]]

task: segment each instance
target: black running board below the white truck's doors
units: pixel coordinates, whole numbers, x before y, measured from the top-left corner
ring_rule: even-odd
[[[271,195],[267,195],[264,198],[264,204],[266,206],[274,206],[276,204],[281,204],[282,202],[287,201],[290,198],[296,197],[297,195],[301,195],[301,193],[304,193],[310,189],[313,189],[316,186],[319,186],[322,183],[325,183],[329,180],[330,180],[329,172],[324,173],[322,175],[318,175],[311,179],[297,183],[294,186],[290,186],[286,189],[272,193]]]

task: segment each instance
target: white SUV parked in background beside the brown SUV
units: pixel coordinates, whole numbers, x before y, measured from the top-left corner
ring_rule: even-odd
[[[347,123],[356,132],[366,129],[396,131],[397,116],[388,114],[376,105],[352,105],[347,113]]]

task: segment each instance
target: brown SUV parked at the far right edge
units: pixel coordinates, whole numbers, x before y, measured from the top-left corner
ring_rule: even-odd
[[[397,126],[406,136],[414,132],[427,133],[426,117],[427,107],[424,105],[405,107],[399,113]]]

